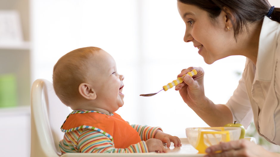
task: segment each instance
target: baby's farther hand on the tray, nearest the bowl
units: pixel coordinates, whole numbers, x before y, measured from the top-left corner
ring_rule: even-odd
[[[157,130],[155,132],[154,138],[161,140],[162,143],[166,143],[167,148],[170,147],[170,142],[174,143],[174,147],[182,146],[181,140],[177,136],[171,136],[169,134],[165,134],[161,130]]]

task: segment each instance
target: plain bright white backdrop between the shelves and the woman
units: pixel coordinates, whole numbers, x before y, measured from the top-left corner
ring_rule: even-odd
[[[278,0],[277,0],[278,1]],[[276,2],[276,0],[275,0]],[[208,126],[174,88],[153,97],[182,69],[205,70],[205,94],[226,103],[237,87],[245,57],[204,63],[192,43],[184,43],[185,24],[170,0],[32,0],[32,81],[52,80],[52,68],[67,52],[97,46],[116,60],[125,76],[125,105],[117,112],[130,123],[161,126],[185,137],[187,127]]]

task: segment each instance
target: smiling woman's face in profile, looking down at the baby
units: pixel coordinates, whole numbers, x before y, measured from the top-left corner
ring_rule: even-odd
[[[208,12],[195,5],[177,2],[181,18],[186,23],[185,42],[193,42],[207,64],[232,55],[230,45],[234,45],[233,29],[226,28],[225,12],[212,19]]]

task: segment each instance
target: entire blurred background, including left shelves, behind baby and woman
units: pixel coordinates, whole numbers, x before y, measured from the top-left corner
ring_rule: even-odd
[[[278,0],[269,1],[280,7]],[[87,46],[111,54],[125,76],[125,104],[117,113],[130,124],[160,126],[181,138],[185,128],[207,127],[174,87],[139,96],[158,92],[191,66],[204,69],[205,94],[214,103],[226,103],[233,94],[245,57],[207,65],[183,41],[184,32],[176,0],[0,0],[1,156],[29,156],[33,81],[52,81],[57,60]],[[261,142],[254,129],[249,133],[266,149],[279,150]]]

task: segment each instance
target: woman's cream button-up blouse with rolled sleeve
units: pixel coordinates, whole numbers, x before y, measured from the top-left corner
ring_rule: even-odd
[[[267,141],[280,145],[280,23],[264,18],[256,65],[247,58],[237,89],[226,103],[245,128],[254,120]]]

